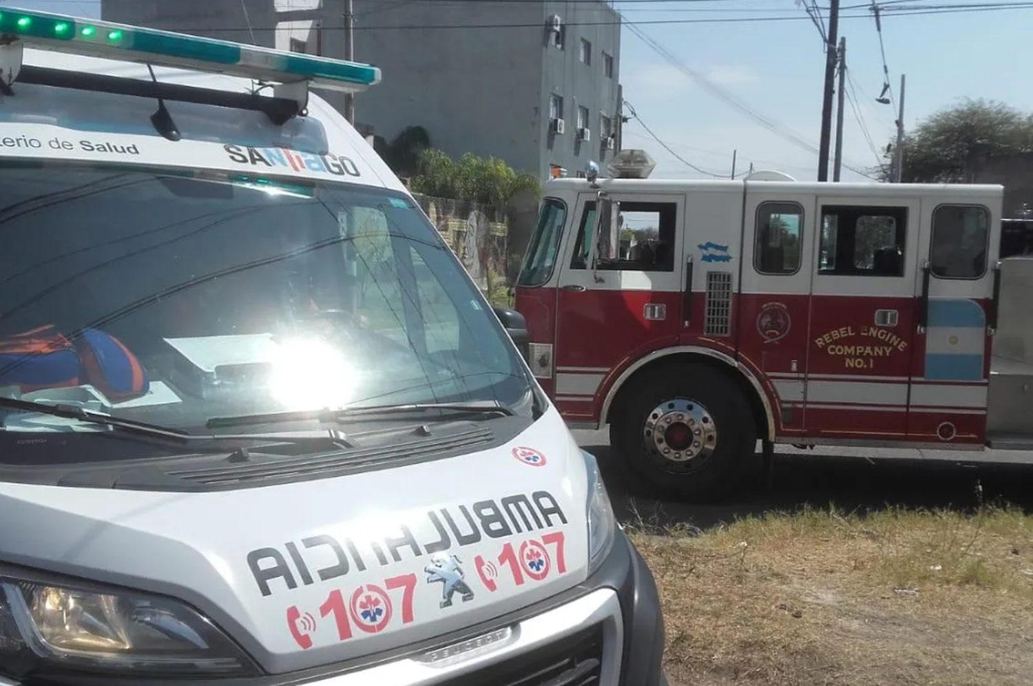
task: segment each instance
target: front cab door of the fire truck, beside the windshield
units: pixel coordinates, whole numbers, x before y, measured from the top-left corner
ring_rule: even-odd
[[[556,308],[555,401],[570,420],[591,420],[606,374],[674,345],[682,303],[683,194],[621,194],[620,241],[593,270],[596,195],[583,193],[565,241]]]

